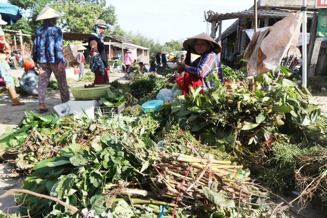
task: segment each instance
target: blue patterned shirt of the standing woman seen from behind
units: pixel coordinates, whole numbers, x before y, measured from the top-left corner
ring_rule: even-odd
[[[36,30],[33,61],[39,63],[64,62],[62,32],[52,23],[44,23]]]

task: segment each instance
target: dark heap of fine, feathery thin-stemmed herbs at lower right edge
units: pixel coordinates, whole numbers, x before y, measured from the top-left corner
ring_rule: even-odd
[[[267,165],[261,179],[269,187],[291,193],[297,192],[301,208],[305,208],[313,199],[317,200],[323,212],[327,211],[327,149],[319,145],[274,143],[273,157]],[[267,166],[266,165],[266,166]]]

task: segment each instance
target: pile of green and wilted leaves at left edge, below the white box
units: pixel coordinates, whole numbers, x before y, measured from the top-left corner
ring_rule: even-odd
[[[16,129],[7,127],[0,136],[0,162],[12,163],[11,172],[17,175],[27,175],[39,161],[56,156],[80,126],[71,116],[41,116],[29,110],[25,115]]]

